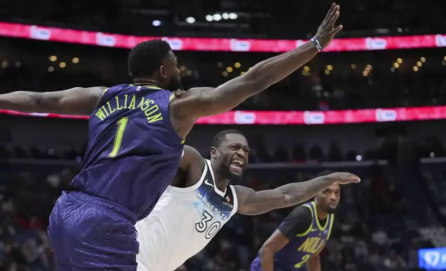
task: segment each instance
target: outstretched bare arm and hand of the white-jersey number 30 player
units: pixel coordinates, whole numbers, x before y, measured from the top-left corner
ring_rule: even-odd
[[[345,172],[337,172],[301,183],[289,183],[276,189],[254,191],[248,187],[235,186],[240,214],[257,215],[302,203],[319,191],[334,183],[346,185],[359,183],[359,177]]]

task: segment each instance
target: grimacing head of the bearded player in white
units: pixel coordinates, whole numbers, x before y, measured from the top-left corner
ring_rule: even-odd
[[[214,137],[211,160],[219,174],[231,181],[240,180],[248,164],[248,140],[237,130],[224,130]]]

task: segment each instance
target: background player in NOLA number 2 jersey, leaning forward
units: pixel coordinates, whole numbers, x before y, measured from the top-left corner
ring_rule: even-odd
[[[295,207],[262,245],[251,271],[321,271],[319,253],[330,238],[340,198],[341,187],[335,184]]]

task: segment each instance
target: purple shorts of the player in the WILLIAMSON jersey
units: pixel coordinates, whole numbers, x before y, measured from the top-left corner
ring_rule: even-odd
[[[57,270],[136,270],[136,217],[111,203],[63,192],[51,212],[48,235]]]

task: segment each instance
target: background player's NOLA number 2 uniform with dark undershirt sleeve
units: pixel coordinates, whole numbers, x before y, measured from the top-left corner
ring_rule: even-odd
[[[296,207],[278,227],[288,237],[289,243],[274,254],[274,270],[305,268],[310,256],[319,252],[330,238],[333,221],[334,214],[328,214],[324,222],[319,221],[314,201]],[[261,270],[260,257],[257,256],[251,264],[251,271]]]

